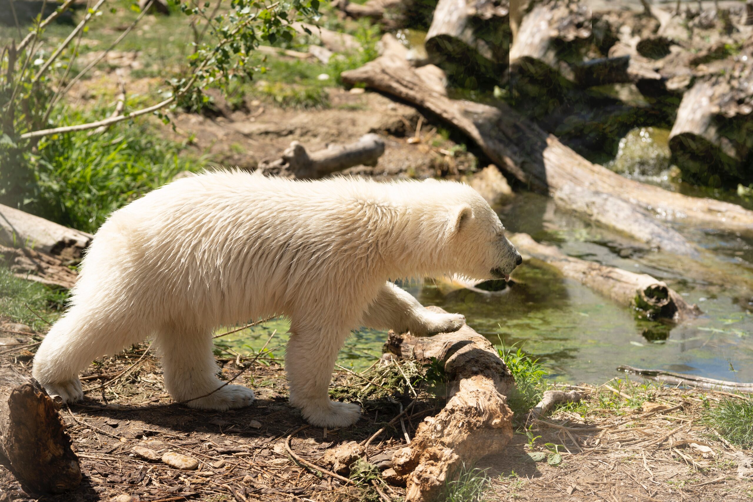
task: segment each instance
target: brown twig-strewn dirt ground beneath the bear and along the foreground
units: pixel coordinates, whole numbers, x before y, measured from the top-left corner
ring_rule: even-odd
[[[0,351],[0,357],[29,373],[33,350],[20,345]],[[84,402],[60,412],[81,460],[81,486],[70,494],[35,497],[23,491],[6,465],[0,467],[0,501],[379,500],[368,484],[349,486],[301,465],[286,443],[289,438],[291,452],[325,469],[330,468],[322,459],[328,449],[349,441],[365,443],[414,399],[407,388],[394,384],[403,379],[395,363],[377,364],[358,375],[334,373],[331,397],[358,401],[364,415],[354,427],[327,431],[306,427],[297,409],[288,405],[282,361],[241,356],[218,361],[223,379],[234,377],[234,383],[254,388],[257,400],[252,406],[207,412],[172,403],[147,345],[95,361],[83,373]],[[529,436],[518,423],[504,452],[478,462],[476,467],[486,469],[490,478],[486,500],[753,497],[753,452],[727,443],[703,421],[704,407],[733,394],[638,382],[560,387],[575,388],[587,397],[531,424]],[[443,399],[420,385],[418,391],[405,421],[409,436],[422,418],[444,406]],[[383,470],[404,445],[401,428],[387,427],[370,443],[366,458]],[[157,455],[178,452],[199,465],[178,470],[159,458],[136,455],[136,446]],[[541,458],[532,458],[535,452]],[[555,452],[561,455],[559,462],[552,461]],[[381,477],[378,483],[390,500],[404,496],[404,488]]]

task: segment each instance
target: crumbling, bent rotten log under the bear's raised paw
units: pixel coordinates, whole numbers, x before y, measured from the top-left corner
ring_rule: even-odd
[[[392,458],[395,472],[407,476],[406,502],[437,500],[463,463],[500,452],[513,437],[505,397],[513,377],[492,343],[468,326],[426,338],[390,332],[385,351],[444,364],[447,405],[425,418],[410,445]]]

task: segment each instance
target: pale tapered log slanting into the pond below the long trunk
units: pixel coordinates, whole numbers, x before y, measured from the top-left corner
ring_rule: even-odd
[[[583,214],[591,221],[633,236],[652,248],[698,257],[698,251],[676,230],[662,224],[644,208],[623,199],[566,183],[554,194],[562,208]]]

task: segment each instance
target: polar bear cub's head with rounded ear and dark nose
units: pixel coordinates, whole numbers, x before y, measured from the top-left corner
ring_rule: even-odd
[[[447,198],[444,260],[451,272],[471,279],[509,279],[523,262],[497,214],[477,192],[460,185]],[[454,194],[453,194],[454,195]],[[449,262],[449,263],[448,263]]]

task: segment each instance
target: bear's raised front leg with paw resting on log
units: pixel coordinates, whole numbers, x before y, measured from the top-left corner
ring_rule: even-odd
[[[364,312],[362,321],[365,326],[375,329],[400,333],[410,331],[413,336],[429,336],[459,330],[465,324],[465,317],[431,312],[410,293],[392,282],[386,282]]]

